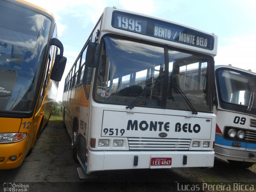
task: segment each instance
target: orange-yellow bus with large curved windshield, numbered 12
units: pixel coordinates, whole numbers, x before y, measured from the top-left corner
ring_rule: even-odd
[[[46,10],[2,0],[0,18],[0,169],[11,169],[50,118],[66,58]]]

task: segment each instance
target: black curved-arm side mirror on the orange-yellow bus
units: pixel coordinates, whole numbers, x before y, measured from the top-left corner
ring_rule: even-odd
[[[60,40],[52,38],[51,45],[57,46],[60,49],[60,54],[55,57],[50,78],[60,82],[66,67],[67,58],[63,56],[64,48]]]

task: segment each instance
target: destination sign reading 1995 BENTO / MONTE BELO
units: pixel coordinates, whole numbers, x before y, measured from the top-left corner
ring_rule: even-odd
[[[112,17],[114,28],[165,39],[173,42],[213,50],[214,37],[190,28],[115,11]]]

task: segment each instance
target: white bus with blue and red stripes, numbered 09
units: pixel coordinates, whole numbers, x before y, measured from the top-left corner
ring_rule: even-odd
[[[215,66],[215,156],[248,168],[256,163],[256,73]]]

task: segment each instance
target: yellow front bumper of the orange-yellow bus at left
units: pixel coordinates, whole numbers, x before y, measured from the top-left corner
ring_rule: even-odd
[[[0,144],[0,170],[20,166],[28,150],[27,139],[16,143]]]

